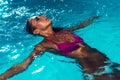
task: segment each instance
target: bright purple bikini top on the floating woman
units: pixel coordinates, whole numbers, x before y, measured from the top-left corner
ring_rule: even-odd
[[[69,34],[69,32],[58,32],[57,34]],[[78,45],[78,43],[82,43],[83,39],[78,37],[75,34],[72,34],[72,37],[74,38],[74,42],[63,42],[63,43],[55,43],[58,50],[62,53],[64,53],[64,55],[69,55],[72,51],[78,49],[80,46]],[[54,43],[53,40],[49,40],[50,42]]]

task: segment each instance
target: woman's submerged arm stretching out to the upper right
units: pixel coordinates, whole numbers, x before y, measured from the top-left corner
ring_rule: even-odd
[[[91,24],[93,22],[94,19],[98,18],[99,16],[93,16],[88,20],[82,21],[78,26],[66,29],[69,32],[73,32],[74,30],[80,29],[80,28],[84,28],[86,26],[88,26],[89,24]]]

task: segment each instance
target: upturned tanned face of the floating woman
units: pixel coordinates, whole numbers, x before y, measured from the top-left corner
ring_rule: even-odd
[[[52,21],[45,16],[35,16],[29,19],[29,22],[37,29],[45,30],[51,26]]]

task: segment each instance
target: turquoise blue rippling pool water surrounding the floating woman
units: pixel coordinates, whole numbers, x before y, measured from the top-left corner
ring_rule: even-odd
[[[93,15],[100,18],[74,33],[91,47],[120,63],[120,0],[0,0],[0,74],[22,62],[43,40],[26,33],[25,23],[34,15],[46,15],[53,26],[69,28]],[[84,80],[74,61],[49,52],[37,57],[28,69],[8,80]]]

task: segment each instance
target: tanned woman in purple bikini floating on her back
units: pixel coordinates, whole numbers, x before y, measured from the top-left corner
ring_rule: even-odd
[[[81,22],[80,25],[55,32],[52,21],[45,16],[35,16],[28,20],[26,30],[30,34],[41,35],[44,40],[37,44],[24,62],[17,64],[0,75],[0,80],[6,80],[24,71],[37,55],[45,51],[53,51],[59,55],[76,59],[82,66],[85,80],[120,80],[119,64],[111,62],[103,53],[88,46],[82,38],[72,34],[74,30],[84,28],[98,16],[93,16]],[[56,52],[57,51],[57,52]],[[107,71],[107,68],[112,71]]]

